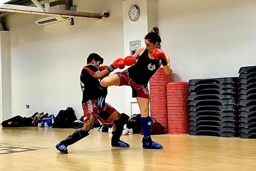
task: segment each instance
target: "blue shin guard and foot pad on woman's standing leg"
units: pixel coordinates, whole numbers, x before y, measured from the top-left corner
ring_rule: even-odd
[[[141,128],[143,129],[144,137],[142,139],[142,147],[144,149],[161,149],[164,148],[158,142],[152,141],[151,135],[151,118],[141,117]]]

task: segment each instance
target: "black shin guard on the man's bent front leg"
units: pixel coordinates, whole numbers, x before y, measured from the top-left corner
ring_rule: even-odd
[[[130,117],[124,113],[121,114],[121,117],[119,120],[114,120],[115,127],[112,132],[112,141],[119,141],[120,137],[123,133],[124,125],[128,122],[128,119]]]

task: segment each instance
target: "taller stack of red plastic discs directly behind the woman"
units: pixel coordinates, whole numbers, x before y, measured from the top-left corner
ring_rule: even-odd
[[[172,80],[172,70],[166,75],[163,68],[159,68],[150,79],[151,117],[165,127],[164,133],[168,133],[166,85]]]

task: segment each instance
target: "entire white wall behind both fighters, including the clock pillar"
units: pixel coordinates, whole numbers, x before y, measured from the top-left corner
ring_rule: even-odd
[[[129,41],[139,39],[143,45],[156,20],[147,11],[153,1],[122,1],[74,1],[81,11],[111,13],[99,21],[75,18],[75,26],[66,22],[38,26],[33,21],[42,16],[29,14],[7,18],[13,116],[35,111],[56,114],[67,106],[82,115],[79,74],[87,55],[97,52],[105,64],[128,55]],[[141,17],[127,25],[127,7],[136,3]],[[254,0],[158,0],[157,26],[162,48],[171,57],[174,81],[237,76],[239,67],[255,65],[255,17]],[[135,31],[128,33],[129,29]],[[131,98],[131,88],[110,87],[107,101],[120,112],[129,112],[129,103],[136,100]]]

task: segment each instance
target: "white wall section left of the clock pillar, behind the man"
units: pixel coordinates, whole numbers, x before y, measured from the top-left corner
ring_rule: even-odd
[[[72,106],[80,117],[83,111],[79,76],[88,54],[99,53],[106,65],[124,55],[122,1],[77,0],[74,5],[80,11],[109,11],[110,17],[98,21],[75,18],[74,26],[67,22],[38,26],[34,21],[42,16],[8,16],[12,116],[31,116],[36,111],[57,114]],[[110,87],[108,92],[107,102],[123,112],[124,87]],[[25,108],[26,104],[30,109]]]

